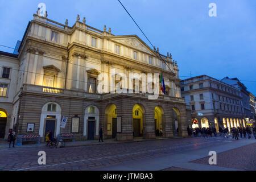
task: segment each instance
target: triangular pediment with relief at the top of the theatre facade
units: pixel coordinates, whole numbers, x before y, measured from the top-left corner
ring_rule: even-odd
[[[143,40],[141,40],[137,35],[110,36],[109,38],[115,42],[124,44],[134,49],[138,49],[142,52],[146,52],[151,55],[155,54],[155,52],[150,47],[148,47],[147,44],[144,43]]]

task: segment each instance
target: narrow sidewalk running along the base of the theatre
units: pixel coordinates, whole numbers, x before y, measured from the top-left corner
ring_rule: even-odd
[[[190,137],[172,137],[172,138],[155,138],[155,139],[143,139],[142,137],[134,138],[134,140],[130,141],[115,141],[115,139],[105,139],[104,142],[98,142],[98,140],[80,140],[75,142],[65,142],[65,147],[78,147],[78,146],[93,146],[99,144],[116,144],[116,143],[129,143],[129,142],[146,142],[151,140],[164,140],[164,139],[179,139],[179,138],[190,138]],[[13,144],[13,143],[12,143]],[[16,146],[15,148],[23,148],[23,147],[44,147],[46,143],[40,144],[26,144],[23,143],[22,146]],[[9,142],[7,140],[0,140],[0,150],[2,148],[9,147]]]

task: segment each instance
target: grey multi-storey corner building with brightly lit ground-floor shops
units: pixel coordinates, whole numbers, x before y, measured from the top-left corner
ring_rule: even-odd
[[[239,89],[207,75],[180,82],[181,96],[191,106],[192,127],[245,127]]]

